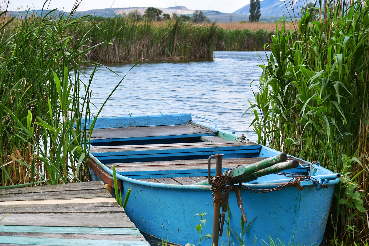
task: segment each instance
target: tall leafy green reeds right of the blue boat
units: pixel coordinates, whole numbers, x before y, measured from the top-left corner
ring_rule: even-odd
[[[369,1],[319,3],[296,34],[277,23],[248,110],[259,143],[343,175],[328,234],[353,242],[369,234]]]

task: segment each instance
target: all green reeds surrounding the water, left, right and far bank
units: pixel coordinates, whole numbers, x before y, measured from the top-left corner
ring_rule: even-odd
[[[88,181],[90,132],[80,125],[93,106],[94,72],[83,83],[81,64],[268,49],[249,108],[258,142],[340,172],[329,243],[368,240],[369,1],[320,3],[296,24],[249,30],[245,23],[73,18],[77,6],[67,16],[0,11],[0,189]]]

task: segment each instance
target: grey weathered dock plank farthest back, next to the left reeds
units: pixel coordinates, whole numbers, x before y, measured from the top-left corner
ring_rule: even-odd
[[[15,189],[2,189],[0,195],[3,194],[19,194],[19,193],[36,193],[36,192],[52,192],[52,191],[71,191],[75,189],[103,189],[103,181],[80,182],[59,185],[43,185],[36,187],[24,187]]]

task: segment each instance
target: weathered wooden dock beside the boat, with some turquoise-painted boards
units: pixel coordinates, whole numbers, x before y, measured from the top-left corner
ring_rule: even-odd
[[[0,190],[0,245],[149,243],[95,181]]]

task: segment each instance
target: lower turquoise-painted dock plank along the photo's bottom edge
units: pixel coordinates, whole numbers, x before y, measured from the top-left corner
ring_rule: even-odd
[[[27,238],[15,236],[0,236],[1,243],[19,245],[48,245],[48,246],[149,246],[146,241],[117,241],[92,239],[66,239],[66,238]]]

